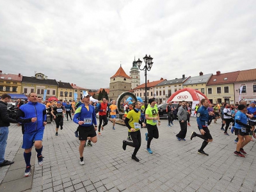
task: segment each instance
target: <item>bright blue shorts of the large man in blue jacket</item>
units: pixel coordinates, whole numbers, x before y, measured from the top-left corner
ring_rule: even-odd
[[[44,136],[44,129],[39,129],[36,132],[25,132],[23,134],[22,148],[28,149],[33,147],[34,141],[42,141]]]

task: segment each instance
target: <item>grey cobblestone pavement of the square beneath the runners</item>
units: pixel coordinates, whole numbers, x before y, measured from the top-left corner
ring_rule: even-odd
[[[146,151],[147,129],[141,129],[140,162],[136,162],[131,159],[134,148],[122,149],[127,128],[116,125],[114,131],[109,122],[98,142],[84,148],[84,166],[79,165],[79,141],[74,136],[77,125],[65,120],[63,130],[55,136],[55,124],[47,124],[44,166],[35,162],[31,191],[256,191],[255,142],[244,147],[246,158],[234,156],[236,136],[230,131],[230,136],[225,136],[218,121],[209,127],[214,140],[205,148],[209,156],[202,156],[196,153],[202,139],[189,138],[191,131],[198,132],[195,118],[191,118],[186,141],[175,137],[179,122],[172,127],[167,126],[167,120],[161,123],[159,139],[151,143],[153,154]],[[6,159],[15,156],[21,138],[20,129],[17,132],[17,127],[10,127]],[[6,171],[7,167],[0,169],[0,178]]]

